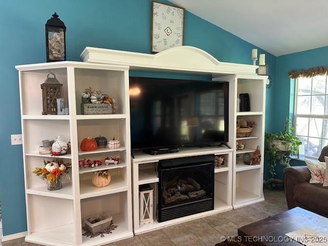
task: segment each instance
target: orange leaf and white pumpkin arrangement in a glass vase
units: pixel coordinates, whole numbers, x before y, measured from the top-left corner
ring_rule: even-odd
[[[62,159],[53,159],[52,161],[43,161],[44,167],[36,167],[33,173],[41,177],[47,183],[47,188],[50,191],[59,190],[63,186],[61,177],[68,174],[71,168],[71,163],[64,163]]]

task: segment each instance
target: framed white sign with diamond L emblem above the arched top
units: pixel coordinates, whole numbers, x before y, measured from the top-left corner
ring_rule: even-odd
[[[183,45],[185,9],[152,2],[152,52]]]

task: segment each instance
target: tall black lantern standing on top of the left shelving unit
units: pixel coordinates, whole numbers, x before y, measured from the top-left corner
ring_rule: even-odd
[[[46,23],[47,63],[66,60],[66,27],[55,12]]]

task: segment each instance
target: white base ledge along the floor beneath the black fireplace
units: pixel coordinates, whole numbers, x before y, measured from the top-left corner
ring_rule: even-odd
[[[134,230],[134,233],[135,233],[135,235],[139,235],[142,233],[151,232],[151,231],[155,231],[158,229],[170,227],[170,226],[173,226],[174,224],[179,224],[182,222],[210,216],[210,215],[217,214],[220,212],[226,212],[229,210],[232,210],[231,205],[228,205],[226,202],[216,198],[214,200],[214,209],[213,210],[198,213],[198,214],[192,214],[192,215],[177,218],[177,219],[171,219],[171,220],[163,221],[163,222],[158,222],[156,219],[154,219],[154,221],[151,223],[140,224],[139,229]]]

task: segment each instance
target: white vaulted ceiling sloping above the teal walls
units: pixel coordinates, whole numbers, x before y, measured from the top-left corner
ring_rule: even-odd
[[[327,0],[170,0],[276,56],[328,46]]]

